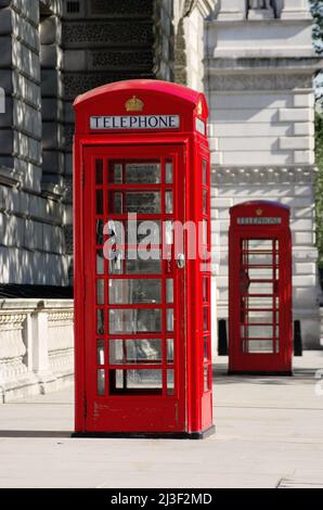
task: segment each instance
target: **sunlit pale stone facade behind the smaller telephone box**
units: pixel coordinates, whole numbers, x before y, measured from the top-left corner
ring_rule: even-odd
[[[294,320],[303,345],[318,347],[312,78],[322,61],[308,2],[222,1],[206,22],[206,40],[218,318],[228,317],[229,208],[279,201],[292,214]]]

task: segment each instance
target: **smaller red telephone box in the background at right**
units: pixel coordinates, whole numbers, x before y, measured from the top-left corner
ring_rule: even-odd
[[[251,201],[230,209],[229,373],[292,374],[289,208]]]

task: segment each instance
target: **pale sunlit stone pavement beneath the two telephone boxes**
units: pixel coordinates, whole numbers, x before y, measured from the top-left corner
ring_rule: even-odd
[[[72,438],[73,388],[0,405],[0,487],[323,488],[323,352],[293,378],[228,377],[227,362],[203,441]]]

